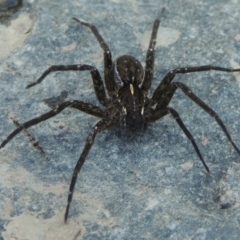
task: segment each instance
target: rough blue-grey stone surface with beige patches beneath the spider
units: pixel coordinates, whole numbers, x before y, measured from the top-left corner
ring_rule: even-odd
[[[97,3],[96,3],[97,2]],[[72,17],[95,24],[114,57],[144,65],[153,20],[162,7],[154,89],[176,67],[240,65],[240,1],[24,1],[0,25],[0,140],[49,110],[44,99],[98,104],[88,72],[57,72],[26,90],[52,64],[87,63],[103,73],[102,50]],[[239,74],[177,76],[221,117],[240,146]],[[79,175],[63,223],[73,167],[97,121],[67,109],[19,134],[0,150],[1,239],[239,239],[240,157],[214,119],[182,92],[171,106],[194,135],[211,174],[171,117],[144,135],[101,133]]]

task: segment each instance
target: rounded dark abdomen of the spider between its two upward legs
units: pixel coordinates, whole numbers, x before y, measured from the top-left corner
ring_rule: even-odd
[[[114,62],[114,80],[118,86],[124,84],[139,85],[143,79],[143,67],[134,57],[123,55]]]

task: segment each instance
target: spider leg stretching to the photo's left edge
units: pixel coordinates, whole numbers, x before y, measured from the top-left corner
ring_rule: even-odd
[[[85,102],[78,101],[78,100],[66,101],[66,102],[59,104],[59,106],[56,107],[55,109],[21,124],[1,143],[0,149],[3,148],[13,137],[15,137],[22,130],[27,129],[31,126],[37,125],[40,122],[43,122],[49,118],[56,116],[57,114],[62,112],[67,107],[79,109],[80,111],[86,112],[86,113],[94,115],[96,117],[103,117],[103,115],[104,115],[103,111],[100,108],[98,108],[90,103],[85,103]]]

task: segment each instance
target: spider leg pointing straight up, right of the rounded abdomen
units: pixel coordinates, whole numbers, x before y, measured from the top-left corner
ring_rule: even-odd
[[[164,9],[161,11],[161,15],[164,12]],[[160,15],[160,17],[161,17]],[[153,29],[152,29],[152,35],[151,39],[149,42],[149,47],[147,50],[147,56],[146,56],[146,66],[145,66],[145,75],[144,75],[144,80],[141,86],[141,89],[145,92],[147,92],[152,83],[152,78],[153,78],[153,69],[154,69],[154,58],[155,58],[155,45],[156,45],[156,39],[157,39],[157,33],[158,33],[158,28],[160,25],[160,17],[155,19],[154,24],[153,24]]]

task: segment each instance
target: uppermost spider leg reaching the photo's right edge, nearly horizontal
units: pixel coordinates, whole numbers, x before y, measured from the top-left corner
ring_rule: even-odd
[[[222,71],[222,72],[240,72],[240,69],[231,69],[231,68],[223,68],[219,66],[213,66],[213,65],[205,65],[205,66],[197,66],[197,67],[186,67],[186,68],[176,68],[174,70],[169,71],[166,76],[163,78],[161,83],[158,85],[156,90],[153,93],[152,99],[151,99],[151,105],[155,105],[158,102],[159,96],[161,96],[165,89],[168,87],[168,85],[172,82],[173,78],[176,74],[184,74],[184,73],[190,73],[190,72],[203,72],[203,71]]]

